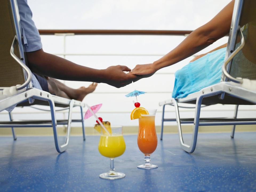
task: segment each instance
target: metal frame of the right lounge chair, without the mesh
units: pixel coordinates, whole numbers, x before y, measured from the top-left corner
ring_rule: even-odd
[[[191,93],[187,97],[182,99],[172,98],[170,100],[166,100],[160,102],[159,105],[163,105],[163,114],[162,114],[162,126],[161,126],[161,140],[163,137],[163,123],[164,121],[177,121],[178,124],[178,132],[179,132],[179,141],[181,144],[181,148],[188,153],[193,153],[197,144],[197,135],[198,135],[198,126],[206,126],[206,125],[234,125],[231,138],[234,137],[235,132],[235,125],[253,125],[256,124],[256,119],[237,119],[237,111],[238,105],[235,107],[234,118],[200,118],[200,111],[201,111],[201,104],[202,100],[205,97],[220,95],[221,99],[224,98],[225,93],[228,93],[230,96],[237,97],[251,103],[256,104],[256,91],[252,91],[246,88],[242,88],[234,83],[230,83],[233,81],[235,83],[242,83],[243,80],[235,79],[234,77],[230,76],[227,72],[229,70],[230,61],[233,57],[243,48],[245,42],[244,37],[241,31],[240,26],[238,26],[239,18],[241,15],[243,0],[236,0],[234,5],[233,17],[230,27],[230,34],[229,34],[229,42],[227,45],[227,52],[226,59],[224,61],[222,71],[223,71],[223,78],[222,82],[217,83],[215,85],[211,85],[209,87],[201,89],[199,92]],[[236,50],[231,50],[231,47],[234,47],[237,32],[241,37],[241,45]],[[230,81],[227,81],[227,80]],[[196,100],[195,104],[195,116],[194,119],[181,119],[179,116],[179,106],[178,103],[186,103],[188,101]],[[174,105],[176,119],[164,119],[164,112],[165,112],[165,105]],[[181,124],[194,124],[193,125],[193,135],[192,141],[190,145],[184,143],[182,138],[182,131],[181,131]]]

